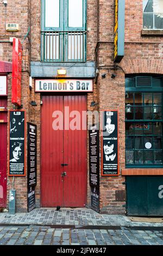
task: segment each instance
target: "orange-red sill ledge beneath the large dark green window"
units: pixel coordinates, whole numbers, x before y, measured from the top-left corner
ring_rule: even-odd
[[[122,169],[122,176],[123,175],[163,175],[163,168]]]

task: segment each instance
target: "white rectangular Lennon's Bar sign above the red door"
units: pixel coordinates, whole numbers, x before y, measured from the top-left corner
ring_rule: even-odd
[[[42,79],[35,80],[35,92],[92,92],[93,80]]]

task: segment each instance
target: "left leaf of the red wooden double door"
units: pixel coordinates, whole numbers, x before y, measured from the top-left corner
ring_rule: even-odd
[[[41,116],[41,201],[44,207],[63,206],[63,130],[53,129],[53,112],[62,111],[62,96],[43,96]]]

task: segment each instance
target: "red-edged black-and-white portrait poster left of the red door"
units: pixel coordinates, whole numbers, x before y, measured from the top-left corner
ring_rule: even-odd
[[[26,112],[9,111],[9,176],[26,176]]]

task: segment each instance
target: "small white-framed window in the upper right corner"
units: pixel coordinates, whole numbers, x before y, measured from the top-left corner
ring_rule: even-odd
[[[162,0],[143,0],[143,29],[163,29]]]

